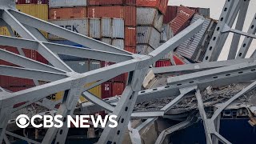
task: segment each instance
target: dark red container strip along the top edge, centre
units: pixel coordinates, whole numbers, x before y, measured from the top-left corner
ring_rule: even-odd
[[[87,6],[136,5],[136,0],[87,0]]]

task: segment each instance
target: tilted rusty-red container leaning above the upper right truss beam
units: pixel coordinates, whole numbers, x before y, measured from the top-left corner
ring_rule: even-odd
[[[170,27],[173,30],[174,35],[178,34],[185,26],[187,26],[190,19],[194,16],[194,10],[190,10],[186,6],[178,7],[178,15],[170,22]]]

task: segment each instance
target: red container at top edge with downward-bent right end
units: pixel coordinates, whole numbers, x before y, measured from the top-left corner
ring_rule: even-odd
[[[168,0],[137,0],[136,5],[143,7],[156,7],[162,14],[166,14]]]

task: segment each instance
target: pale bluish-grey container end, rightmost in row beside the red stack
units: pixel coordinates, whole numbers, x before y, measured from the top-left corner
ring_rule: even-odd
[[[125,38],[125,24],[123,19],[113,18],[112,30],[112,38]]]

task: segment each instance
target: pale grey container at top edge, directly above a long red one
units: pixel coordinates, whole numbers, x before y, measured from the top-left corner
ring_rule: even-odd
[[[50,0],[49,7],[74,7],[86,6],[86,0]]]

